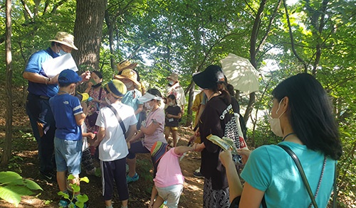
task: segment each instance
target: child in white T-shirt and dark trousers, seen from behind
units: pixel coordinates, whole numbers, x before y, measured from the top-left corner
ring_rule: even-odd
[[[110,106],[100,109],[96,125],[99,126],[98,140],[99,159],[103,179],[103,197],[106,208],[112,208],[112,189],[114,180],[121,201],[121,207],[127,208],[129,192],[126,181],[126,156],[129,153],[127,138],[136,132],[137,119],[132,107],[121,103],[126,93],[125,84],[112,80],[105,85],[105,99]],[[126,129],[128,131],[126,131]]]

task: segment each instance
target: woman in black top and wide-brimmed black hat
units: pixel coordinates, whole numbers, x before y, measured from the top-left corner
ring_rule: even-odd
[[[208,102],[199,119],[201,144],[201,169],[204,176],[203,207],[229,207],[229,187],[225,168],[219,160],[221,148],[206,139],[210,134],[222,137],[233,125],[234,111],[231,96],[224,89],[224,73],[221,67],[210,65],[204,72],[193,75],[194,82],[204,90]]]

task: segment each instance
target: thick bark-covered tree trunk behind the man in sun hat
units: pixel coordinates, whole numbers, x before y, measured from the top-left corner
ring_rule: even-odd
[[[73,58],[77,65],[99,70],[100,45],[107,0],[77,0]]]

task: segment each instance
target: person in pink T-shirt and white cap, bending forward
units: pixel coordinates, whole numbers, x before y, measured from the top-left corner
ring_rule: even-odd
[[[136,173],[136,153],[150,153],[156,141],[167,143],[163,133],[164,111],[159,108],[162,94],[158,89],[149,89],[139,100],[145,103],[145,107],[150,110],[150,113],[147,114],[146,124],[142,125],[140,131],[127,141],[127,146],[129,146],[129,154],[127,155],[127,165],[129,165],[129,173],[126,177],[127,182],[134,182],[139,178]],[[143,141],[136,141],[143,136],[145,137]]]

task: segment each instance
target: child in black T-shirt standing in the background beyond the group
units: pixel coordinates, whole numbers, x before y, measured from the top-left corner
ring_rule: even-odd
[[[182,117],[182,112],[177,106],[177,99],[174,94],[169,94],[167,97],[167,109],[165,109],[166,119],[164,126],[164,137],[168,142],[169,133],[172,132],[173,146],[177,146],[177,130],[179,126],[179,119]]]

